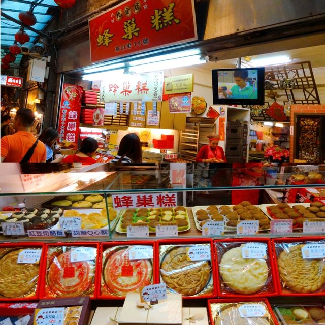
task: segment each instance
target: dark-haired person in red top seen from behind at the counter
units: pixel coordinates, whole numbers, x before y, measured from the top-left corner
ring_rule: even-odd
[[[87,137],[81,141],[80,148],[77,153],[70,154],[63,159],[63,163],[81,163],[82,165],[91,165],[96,163],[92,158],[98,148],[97,140]]]

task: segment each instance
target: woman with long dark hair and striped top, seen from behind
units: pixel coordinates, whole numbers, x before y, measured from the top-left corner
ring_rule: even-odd
[[[117,155],[111,163],[142,163],[140,138],[135,133],[126,134],[119,145]]]

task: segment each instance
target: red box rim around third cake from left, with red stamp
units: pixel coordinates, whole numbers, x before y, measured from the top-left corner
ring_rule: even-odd
[[[105,295],[104,293],[102,293],[102,276],[103,276],[103,252],[105,251],[105,249],[109,248],[109,247],[115,247],[115,246],[132,246],[132,245],[150,245],[153,247],[153,259],[152,259],[152,266],[153,266],[153,270],[152,270],[152,283],[157,283],[156,282],[156,277],[155,277],[155,270],[156,270],[156,256],[155,256],[155,246],[156,246],[156,242],[155,241],[114,241],[114,242],[106,242],[106,243],[101,243],[101,247],[100,247],[100,259],[99,259],[99,276],[97,278],[97,291],[96,291],[96,297],[98,297],[99,299],[125,299],[125,297],[122,296],[117,296],[114,294],[108,294]]]

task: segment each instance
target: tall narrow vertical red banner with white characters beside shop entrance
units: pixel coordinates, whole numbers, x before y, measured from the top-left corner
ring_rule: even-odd
[[[63,84],[58,127],[58,142],[62,149],[78,147],[82,92],[81,86]]]

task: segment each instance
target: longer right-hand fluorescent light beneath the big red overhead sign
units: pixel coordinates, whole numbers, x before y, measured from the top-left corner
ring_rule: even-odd
[[[175,59],[170,59],[166,61],[152,62],[148,64],[142,64],[141,66],[135,66],[130,68],[131,72],[142,73],[142,72],[150,72],[157,71],[161,69],[172,69],[172,68],[180,68],[186,66],[194,66],[195,64],[205,63],[206,61],[201,58],[201,54],[192,55],[187,57],[179,57]]]

